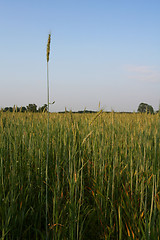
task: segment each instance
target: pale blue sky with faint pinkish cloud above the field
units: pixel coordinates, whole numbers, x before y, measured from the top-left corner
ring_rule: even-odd
[[[137,111],[160,103],[159,0],[0,0],[0,107]]]

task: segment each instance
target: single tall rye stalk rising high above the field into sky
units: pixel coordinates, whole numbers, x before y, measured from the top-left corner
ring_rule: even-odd
[[[48,239],[48,158],[49,158],[49,54],[50,54],[51,34],[48,35],[47,43],[47,159],[46,159],[46,239]]]

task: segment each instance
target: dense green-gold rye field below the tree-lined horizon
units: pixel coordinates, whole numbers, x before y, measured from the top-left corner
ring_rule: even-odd
[[[47,113],[0,113],[1,240],[46,239]],[[52,113],[48,239],[160,239],[160,116]]]

